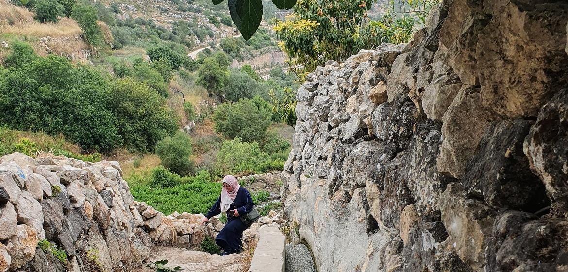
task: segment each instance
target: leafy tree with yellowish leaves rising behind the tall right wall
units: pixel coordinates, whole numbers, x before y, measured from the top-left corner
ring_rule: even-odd
[[[304,0],[294,7],[286,21],[278,20],[274,26],[281,40],[279,46],[290,57],[291,65],[304,65],[298,73],[312,72],[327,60],[342,62],[360,49],[375,48],[388,43],[406,43],[412,31],[419,26],[419,14],[404,11],[396,17],[392,9],[383,18],[373,21],[366,16],[375,0],[331,1]],[[406,0],[415,10],[425,11],[439,0]],[[399,1],[400,3],[400,1]],[[394,5],[394,4],[393,4]]]

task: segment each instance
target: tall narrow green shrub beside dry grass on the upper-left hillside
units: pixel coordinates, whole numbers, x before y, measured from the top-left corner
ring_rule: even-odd
[[[97,9],[88,2],[80,2],[73,6],[71,16],[77,21],[88,44],[95,47],[105,42],[101,27],[97,24]]]

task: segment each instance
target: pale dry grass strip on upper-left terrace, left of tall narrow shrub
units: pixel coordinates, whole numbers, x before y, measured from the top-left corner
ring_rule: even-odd
[[[0,33],[31,37],[74,38],[81,34],[81,27],[69,18],[61,18],[58,23],[38,23],[32,20],[32,22],[0,26]]]

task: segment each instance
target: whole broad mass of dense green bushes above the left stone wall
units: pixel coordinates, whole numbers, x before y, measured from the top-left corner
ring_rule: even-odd
[[[83,149],[142,152],[176,131],[164,99],[144,83],[24,48],[9,57],[16,67],[0,73],[0,122],[8,127],[62,133]]]

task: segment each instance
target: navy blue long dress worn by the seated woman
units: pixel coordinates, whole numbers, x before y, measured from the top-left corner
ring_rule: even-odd
[[[220,214],[220,207],[221,197],[219,196],[215,205],[207,212],[207,218]],[[231,204],[231,207],[227,210],[227,224],[225,224],[225,227],[219,232],[215,239],[215,243],[228,253],[240,253],[241,250],[243,250],[243,242],[241,239],[243,238],[243,232],[247,229],[247,226],[241,222],[239,217],[229,215],[228,211],[235,210],[235,208],[239,212],[239,215],[244,215],[253,208],[252,197],[250,197],[249,192],[247,189],[244,189],[244,187],[239,188],[239,192],[235,200],[233,200],[233,204]]]

